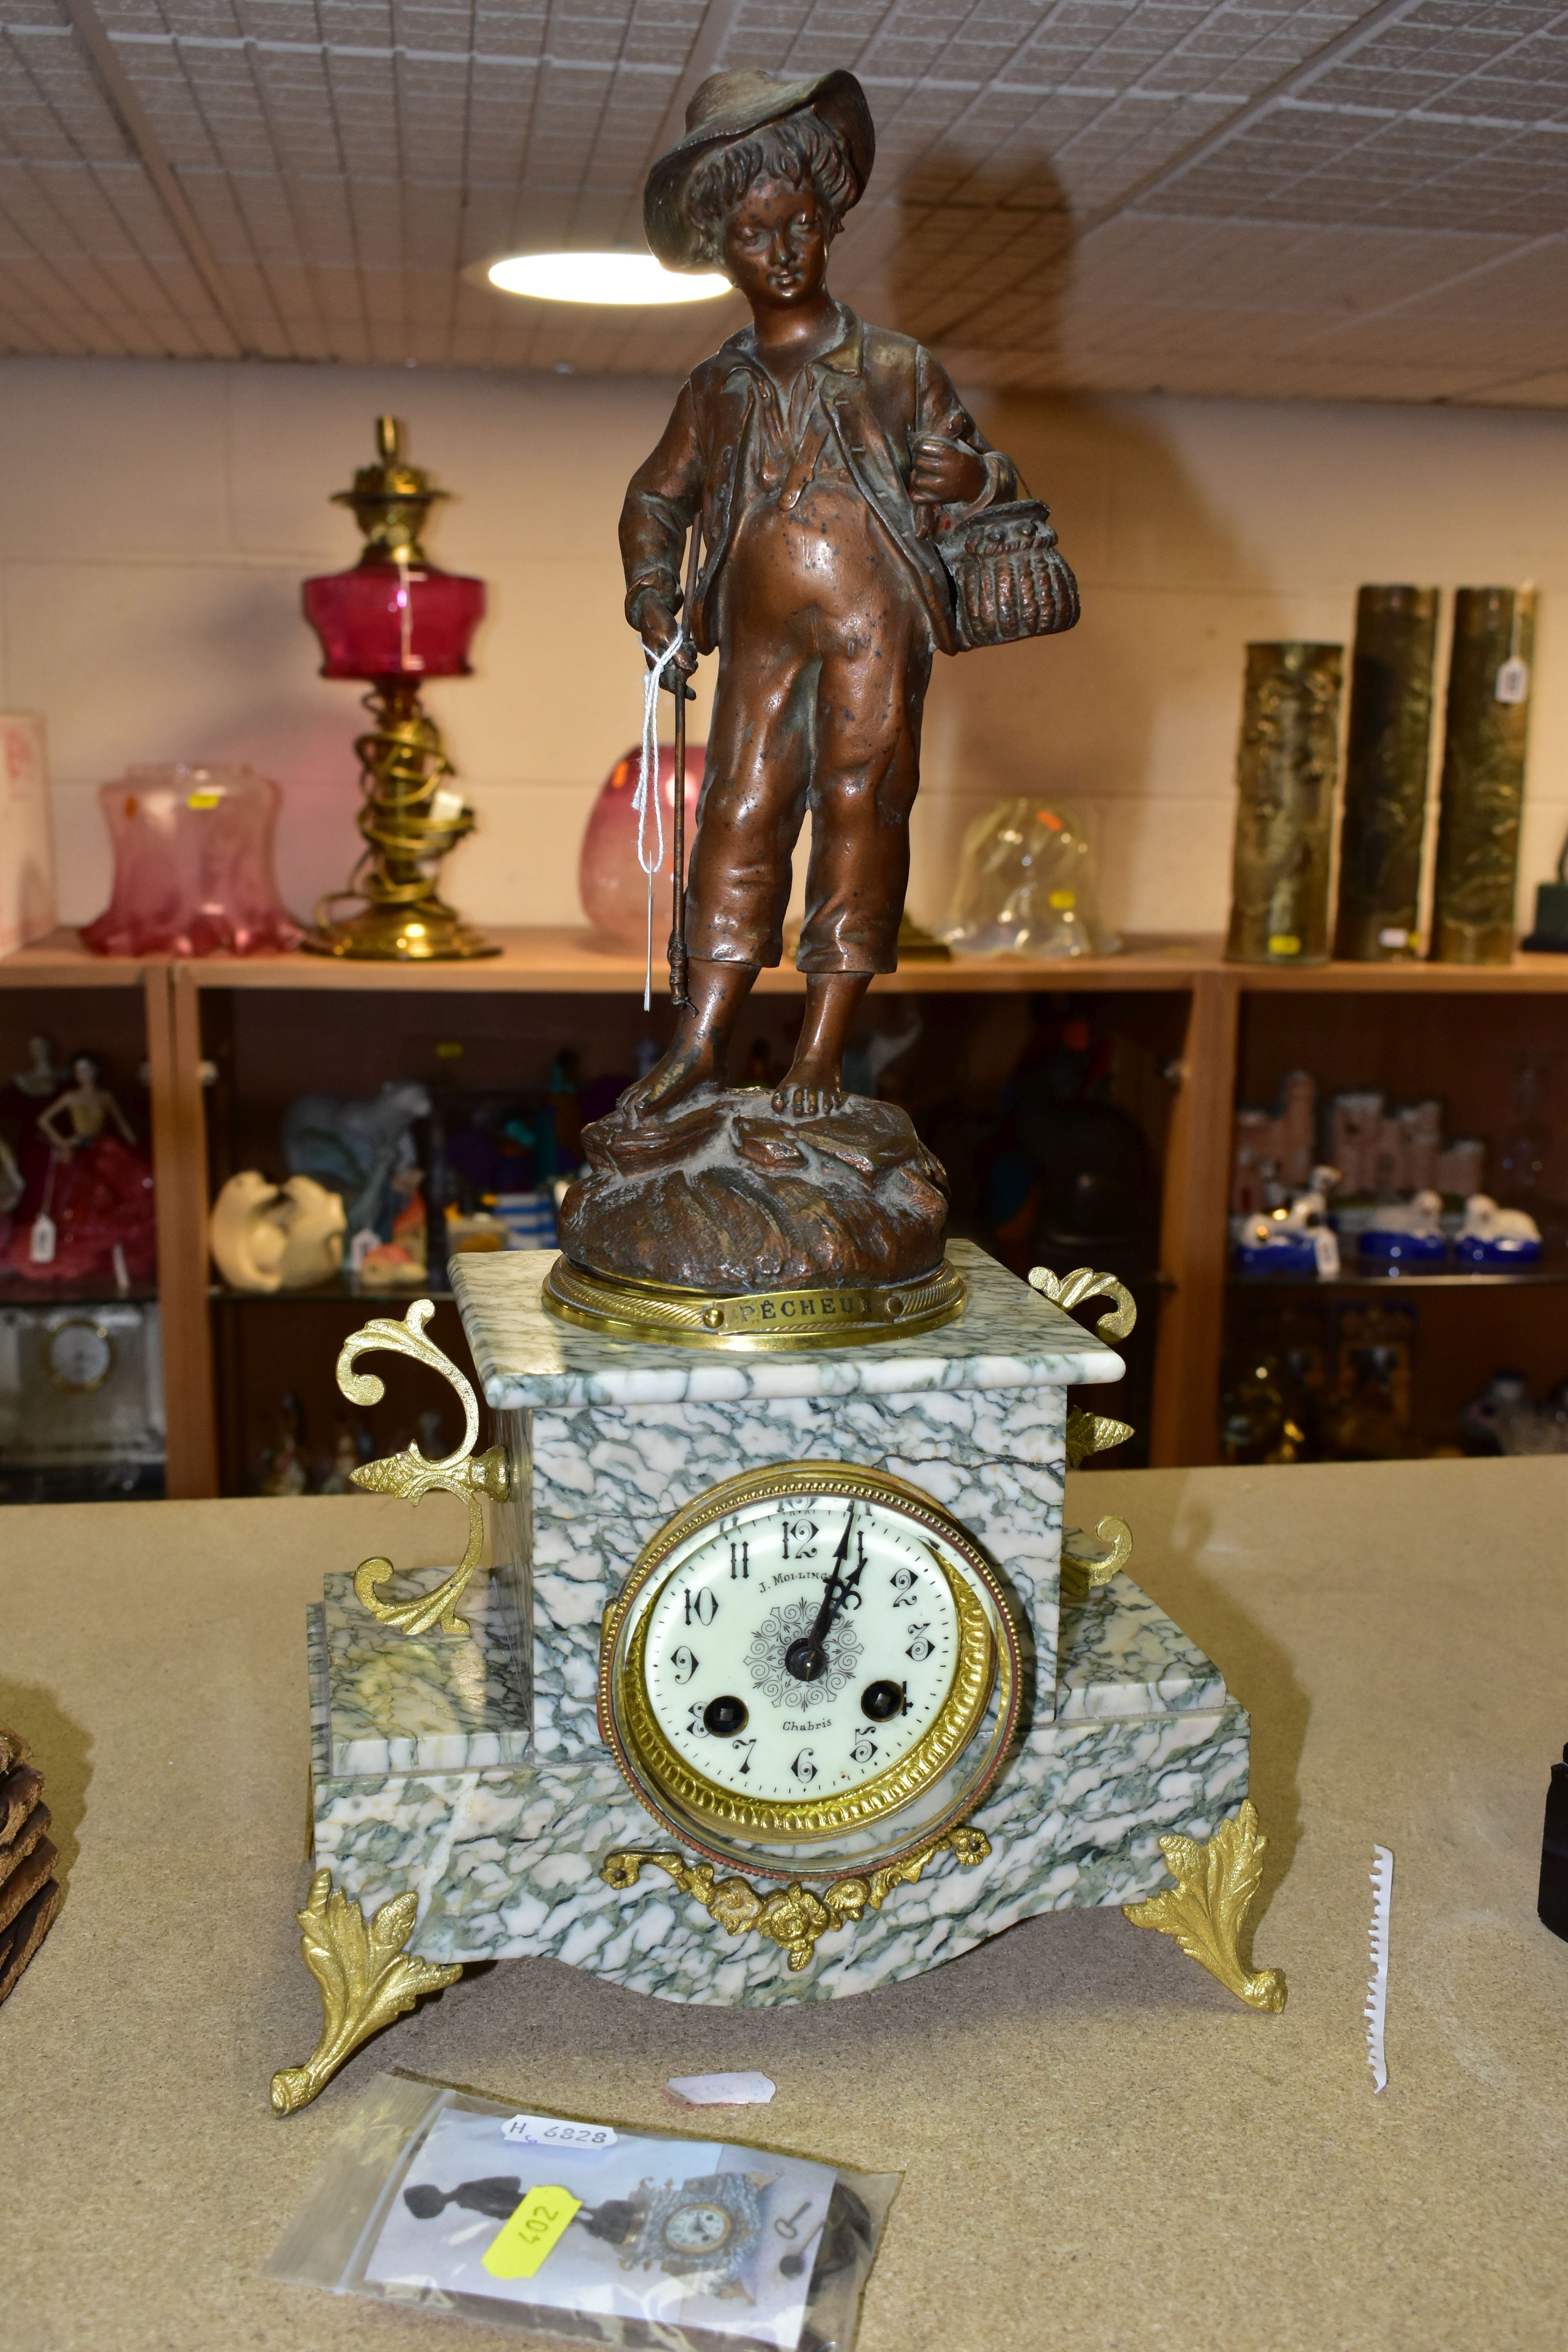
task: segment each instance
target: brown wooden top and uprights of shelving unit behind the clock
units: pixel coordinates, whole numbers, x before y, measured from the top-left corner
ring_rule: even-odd
[[[320,1319],[336,1312],[400,1312],[402,1294],[353,1291],[348,1284],[322,1294],[287,1294],[282,1298],[244,1298],[212,1284],[207,1263],[207,1204],[216,1174],[209,1150],[209,1120],[202,1087],[202,1061],[212,1044],[221,1047],[235,1021],[254,1023],[266,993],[296,990],[317,1000],[336,1000],[331,1025],[343,1037],[362,1040],[357,1073],[341,1073],[339,1091],[369,1091],[376,1084],[374,1047],[386,1042],[383,1004],[423,1000],[512,1000],[508,1021],[541,1030],[545,1016],[559,1014],[559,1000],[621,1000],[621,1018],[644,1028],[642,964],[635,957],[604,953],[581,929],[534,929],[501,934],[503,953],[475,964],[430,964],[409,971],[397,964],[336,964],[310,955],[254,960],[212,957],[207,962],[136,962],[87,955],[75,934],[49,941],[0,962],[0,988],[56,990],[139,990],[146,1021],[146,1058],[150,1070],[150,1141],[158,1178],[158,1298],[162,1305],[165,1390],[169,1409],[167,1491],[172,1496],[207,1496],[219,1491],[219,1404],[214,1364],[219,1352],[233,1355],[237,1336],[214,1343],[214,1327],[235,1324],[240,1315],[268,1308],[273,1317],[294,1312]],[[790,967],[764,971],[757,997],[797,997],[804,990]],[[1206,1463],[1215,1458],[1218,1383],[1225,1343],[1225,1303],[1237,1289],[1255,1296],[1265,1282],[1227,1275],[1227,1200],[1232,1110],[1241,1080],[1246,1098],[1267,1096],[1272,1075],[1293,1063],[1316,1068],[1328,1091],[1335,1084],[1366,1082],[1368,1037],[1375,1051],[1396,1063],[1382,1080],[1392,1091],[1406,1087],[1403,1073],[1436,1068],[1432,1091],[1450,1091],[1453,1077],[1474,1061],[1483,1037],[1509,1033],[1561,1033],[1561,1004],[1568,995],[1568,957],[1521,955],[1507,967],[1455,964],[1326,964],[1305,971],[1251,969],[1225,964],[1218,938],[1140,938],[1124,955],[1084,957],[1070,964],[1006,960],[910,960],[900,971],[877,981],[877,995],[943,997],[1027,997],[1027,995],[1117,995],[1154,1000],[1152,1028],[1175,1042],[1173,1096],[1161,1157],[1159,1279],[1164,1305],[1159,1315],[1152,1397],[1152,1461]],[[343,1000],[350,1002],[343,1002]],[[367,1007],[364,1018],[357,1004]],[[522,1000],[531,1002],[527,1014]],[[555,1002],[548,1002],[555,1000]],[[1354,1004],[1352,1004],[1354,1000]],[[1418,1002],[1408,1002],[1418,1000]],[[875,1002],[875,997],[872,997]],[[374,1007],[374,1016],[369,1011]],[[477,1011],[477,1007],[475,1007]],[[609,1007],[604,1007],[609,1016]],[[783,1009],[780,1009],[783,1011]],[[1133,1018],[1133,1007],[1126,1007]],[[327,1004],[322,1002],[322,1021]],[[421,1014],[425,1028],[430,1021]],[[38,1014],[38,1025],[45,1014]],[[1150,1023],[1145,1021],[1145,1028]],[[1392,1044],[1389,1044],[1392,1040]],[[1324,1044],[1324,1054],[1305,1051]],[[1335,1056],[1361,1056],[1352,1068]],[[214,1056],[221,1063],[221,1051]],[[1493,1051],[1493,1061],[1497,1054]],[[1448,1065],[1448,1084],[1443,1084]],[[1380,1080],[1380,1082],[1382,1082]],[[223,1080],[219,1077],[219,1087]],[[1408,1091],[1420,1091],[1413,1080]],[[1566,1270],[1568,1272],[1568,1270]],[[1507,1291],[1544,1284],[1556,1268],[1535,1277],[1519,1275],[1436,1275],[1436,1277],[1352,1277],[1345,1287],[1387,1289],[1399,1296],[1422,1296],[1443,1289],[1455,1294]],[[1272,1287],[1272,1277],[1267,1277]],[[1316,1284],[1302,1284],[1316,1289]],[[451,1315],[440,1308],[437,1317]],[[282,1327],[277,1327],[282,1329]],[[348,1329],[348,1324],[346,1324]],[[1568,1367],[1566,1367],[1568,1369]]]

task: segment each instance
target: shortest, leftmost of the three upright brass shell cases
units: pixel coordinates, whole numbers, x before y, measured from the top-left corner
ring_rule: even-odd
[[[1328,962],[1328,851],[1340,764],[1342,644],[1248,644],[1232,964]]]

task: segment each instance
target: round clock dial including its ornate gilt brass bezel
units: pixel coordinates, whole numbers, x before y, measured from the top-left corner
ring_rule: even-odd
[[[851,1463],[715,1486],[604,1618],[604,1738],[644,1804],[710,1853],[903,1851],[978,1802],[1016,1717],[994,1569],[931,1496]]]

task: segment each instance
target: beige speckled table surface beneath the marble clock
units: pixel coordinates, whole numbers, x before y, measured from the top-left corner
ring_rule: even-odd
[[[863,2352],[1561,2347],[1568,1945],[1535,1879],[1568,1738],[1568,1461],[1103,1472],[1077,1496],[1131,1519],[1133,1571],[1253,1710],[1255,1952],[1288,1973],[1284,2016],[1114,1910],[827,2009],[677,2009],[520,1962],[292,2122],[266,2091],[320,2023],[292,1919],[303,1604],[369,1550],[440,1559],[456,1505],[0,1512],[0,1722],[33,1740],[68,1867],[0,2006],[5,2352],[517,2345],[259,2277],[388,2065],[665,2129],[665,2077],[762,2067],[778,2098],[736,2124],[905,2176]]]

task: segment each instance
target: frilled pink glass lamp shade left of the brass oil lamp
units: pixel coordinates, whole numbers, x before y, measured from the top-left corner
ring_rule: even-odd
[[[296,948],[273,875],[280,790],[249,767],[127,767],[99,786],[115,887],[82,931],[94,955]]]

